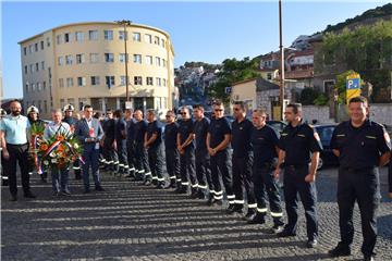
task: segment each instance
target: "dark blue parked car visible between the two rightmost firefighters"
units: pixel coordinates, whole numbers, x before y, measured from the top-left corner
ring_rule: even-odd
[[[322,169],[326,165],[339,165],[338,157],[333,154],[331,149],[331,139],[335,124],[315,125],[316,132],[320,136],[322,152],[320,153],[320,161],[317,170]]]

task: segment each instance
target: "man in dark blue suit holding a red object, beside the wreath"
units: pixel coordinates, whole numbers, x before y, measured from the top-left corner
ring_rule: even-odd
[[[93,107],[84,107],[84,119],[76,124],[75,135],[83,145],[83,182],[84,192],[89,192],[89,174],[91,166],[95,189],[103,191],[99,181],[99,141],[103,137],[102,127],[97,119],[93,117]]]

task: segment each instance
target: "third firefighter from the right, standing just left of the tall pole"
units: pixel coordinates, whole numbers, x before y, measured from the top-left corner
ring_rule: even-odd
[[[249,224],[264,224],[267,215],[267,197],[273,220],[273,233],[283,229],[283,211],[278,181],[273,176],[274,163],[279,154],[279,135],[266,124],[267,114],[258,109],[253,112],[252,145],[254,150],[253,181],[257,199],[257,214],[248,220]]]

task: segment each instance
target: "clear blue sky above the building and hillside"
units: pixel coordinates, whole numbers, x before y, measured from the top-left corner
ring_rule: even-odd
[[[388,1],[284,1],[284,45]],[[22,97],[17,42],[52,27],[88,21],[131,20],[167,30],[175,66],[186,61],[220,63],[277,50],[278,1],[260,2],[2,2],[4,98]]]

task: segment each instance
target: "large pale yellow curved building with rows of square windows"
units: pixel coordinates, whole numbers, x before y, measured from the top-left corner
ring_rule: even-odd
[[[62,25],[22,40],[24,105],[42,117],[68,103],[82,110],[124,108],[127,35],[128,89],[133,108],[166,111],[174,94],[174,50],[161,29],[114,22]]]

